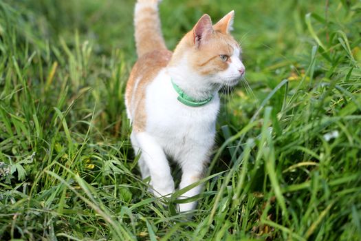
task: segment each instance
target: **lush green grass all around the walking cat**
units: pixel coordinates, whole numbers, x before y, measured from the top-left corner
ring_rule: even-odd
[[[162,2],[171,49],[234,9],[252,89],[223,94],[193,219],[129,142],[133,4],[0,0],[0,240],[361,240],[361,2]]]

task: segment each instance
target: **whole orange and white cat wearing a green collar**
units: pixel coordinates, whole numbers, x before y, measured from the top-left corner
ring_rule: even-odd
[[[207,14],[195,24],[174,52],[167,50],[160,29],[159,0],[135,5],[138,61],[129,76],[125,103],[133,125],[131,143],[141,151],[142,178],[151,177],[157,197],[175,190],[167,158],[182,167],[179,189],[204,176],[215,142],[218,90],[234,86],[245,73],[241,48],[230,35],[234,11],[215,25]],[[201,187],[184,193],[195,196]],[[179,205],[195,209],[196,202]]]

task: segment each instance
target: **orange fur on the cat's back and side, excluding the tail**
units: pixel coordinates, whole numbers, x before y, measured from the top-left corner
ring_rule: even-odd
[[[146,53],[134,64],[125,90],[127,115],[133,127],[140,131],[145,126],[144,99],[146,87],[171,60],[169,50],[154,50]],[[135,121],[136,120],[136,121]]]

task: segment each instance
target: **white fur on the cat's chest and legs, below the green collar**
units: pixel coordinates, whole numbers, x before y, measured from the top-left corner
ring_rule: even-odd
[[[146,90],[146,132],[131,134],[135,151],[142,149],[142,178],[151,176],[155,196],[167,196],[174,191],[174,182],[167,156],[182,167],[182,189],[199,180],[209,159],[215,139],[215,123],[219,97],[202,107],[188,107],[177,101],[171,76],[162,70]],[[145,167],[144,167],[145,165]],[[192,197],[201,187],[184,193]],[[180,211],[194,209],[196,202],[179,205]]]

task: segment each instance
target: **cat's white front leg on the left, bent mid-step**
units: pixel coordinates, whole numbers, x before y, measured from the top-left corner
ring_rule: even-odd
[[[154,195],[156,197],[171,195],[174,191],[174,181],[162,147],[153,136],[146,132],[140,132],[134,136],[142,150],[140,158],[144,162],[140,164],[146,165],[151,175]]]

